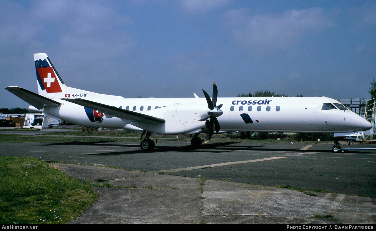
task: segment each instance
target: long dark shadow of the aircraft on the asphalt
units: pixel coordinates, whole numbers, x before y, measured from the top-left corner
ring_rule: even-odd
[[[139,145],[135,144],[109,144],[113,141],[97,141],[97,142],[56,142],[42,145],[89,145],[89,146],[114,146],[114,147],[128,147],[128,148],[140,148]],[[332,150],[300,150],[300,148],[266,148],[265,145],[232,145],[239,144],[240,142],[222,142],[222,143],[211,143],[211,144],[202,144],[199,147],[193,147],[192,145],[185,146],[168,146],[166,144],[158,144],[155,146],[153,151],[145,152],[141,149],[139,150],[130,150],[130,151],[113,151],[107,153],[96,153],[96,154],[87,154],[94,156],[112,156],[112,155],[127,155],[127,154],[137,154],[137,153],[161,153],[168,151],[177,151],[177,152],[203,152],[203,153],[223,153],[223,152],[232,152],[236,150],[243,151],[291,151],[291,152],[324,152],[332,153]]]

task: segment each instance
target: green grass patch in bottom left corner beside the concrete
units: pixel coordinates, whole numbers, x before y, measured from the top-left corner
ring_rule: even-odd
[[[32,157],[0,157],[0,223],[67,223],[95,202],[81,182]]]

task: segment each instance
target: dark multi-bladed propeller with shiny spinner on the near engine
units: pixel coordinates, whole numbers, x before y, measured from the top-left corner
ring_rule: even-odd
[[[208,131],[208,134],[206,135],[206,141],[205,141],[205,143],[207,143],[209,142],[209,140],[211,139],[213,135],[214,126],[215,126],[215,133],[218,133],[221,128],[218,123],[217,117],[223,114],[222,110],[220,109],[223,104],[216,106],[217,96],[218,96],[217,84],[213,83],[213,98],[212,99],[210,99],[209,94],[204,89],[202,89],[202,91],[204,92],[206,102],[208,102],[208,107],[209,107],[208,116],[205,116],[204,118],[200,119],[200,121],[205,121],[206,119],[209,119],[209,126],[208,126],[209,131]]]

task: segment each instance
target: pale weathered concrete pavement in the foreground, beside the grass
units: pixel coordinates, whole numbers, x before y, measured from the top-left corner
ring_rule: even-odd
[[[89,181],[100,197],[71,223],[375,223],[376,201],[339,193],[304,192],[105,167],[52,164]],[[99,184],[99,183],[98,183]],[[332,218],[315,217],[331,215]]]

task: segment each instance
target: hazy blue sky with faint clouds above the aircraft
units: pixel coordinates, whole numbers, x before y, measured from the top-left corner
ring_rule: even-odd
[[[33,54],[69,87],[124,98],[270,90],[365,98],[376,77],[376,1],[0,0],[0,108],[37,92]]]

